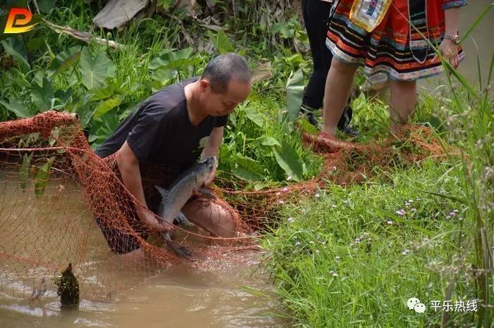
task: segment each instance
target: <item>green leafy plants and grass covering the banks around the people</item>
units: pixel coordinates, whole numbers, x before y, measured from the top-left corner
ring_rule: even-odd
[[[303,147],[294,123],[311,73],[299,2],[146,2],[126,25],[104,30],[92,25],[102,1],[29,1],[35,30],[0,35],[0,120],[51,109],[78,113],[95,147],[152,92],[200,75],[217,53],[236,51],[257,82],[229,119],[219,177],[261,190],[318,175],[323,158]],[[7,1],[6,8],[26,5]],[[369,162],[372,174],[362,182],[328,181],[282,206],[263,239],[265,265],[287,309],[279,315],[304,327],[492,326],[494,56],[489,63],[486,72],[479,61],[475,85],[445,64],[447,86],[439,96],[420,97],[411,122],[432,129],[446,158]],[[357,79],[357,90],[364,81]],[[361,131],[354,141],[390,138],[383,101],[357,92],[352,104]],[[408,139],[394,147],[415,151]],[[411,297],[426,304],[426,313],[406,307]],[[470,308],[431,307],[447,300]]]

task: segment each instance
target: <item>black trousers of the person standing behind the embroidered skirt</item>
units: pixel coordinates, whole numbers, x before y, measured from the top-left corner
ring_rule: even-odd
[[[327,1],[302,0],[303,22],[306,24],[314,65],[311,78],[303,92],[302,104],[314,109],[323,107],[327,72],[333,58],[326,46],[327,19],[330,17],[331,6]],[[343,129],[350,120],[351,108],[347,106],[339,119],[338,127]]]

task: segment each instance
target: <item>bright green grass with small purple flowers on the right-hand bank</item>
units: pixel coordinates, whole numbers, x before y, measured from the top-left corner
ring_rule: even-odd
[[[392,183],[328,187],[319,197],[286,206],[284,224],[264,241],[269,272],[296,324],[308,327],[423,327],[433,311],[406,308],[417,297],[429,308],[443,300],[450,257],[469,254],[461,234],[471,231],[451,165],[432,160],[393,172]],[[406,214],[398,215],[404,210]],[[454,212],[454,216],[451,213]],[[460,217],[462,220],[460,220]],[[466,272],[465,272],[466,273]],[[468,279],[467,279],[468,278]],[[460,278],[453,298],[476,297],[471,277]],[[471,313],[452,316],[465,327]]]

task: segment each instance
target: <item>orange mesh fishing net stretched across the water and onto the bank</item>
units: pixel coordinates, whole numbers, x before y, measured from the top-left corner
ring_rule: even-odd
[[[443,156],[440,144],[424,127],[409,127],[399,138],[380,145],[328,145],[309,134],[303,139],[325,159],[320,175],[259,191],[217,178],[212,187],[216,196],[193,200],[188,211],[211,220],[227,213],[222,228],[230,237],[215,237],[207,227],[179,227],[176,243],[193,254],[193,260],[183,260],[157,236],[147,237],[129,223],[129,218],[136,218],[135,199],[121,183],[114,158],[102,159],[92,152],[75,115],[48,111],[1,122],[0,291],[23,298],[55,294],[54,280],[71,263],[82,297],[108,298],[171,266],[207,270],[208,265],[217,265],[214,260],[243,261],[236,251],[258,250],[252,233],[275,226],[283,203],[310,196],[328,181],[351,184],[385,168],[406,168],[430,156]],[[146,197],[152,194],[149,186],[163,176],[172,177],[156,168],[149,172],[143,177]],[[104,229],[111,232],[107,239]],[[117,234],[145,256],[117,256],[112,252],[112,236]],[[123,267],[126,275],[118,275]]]

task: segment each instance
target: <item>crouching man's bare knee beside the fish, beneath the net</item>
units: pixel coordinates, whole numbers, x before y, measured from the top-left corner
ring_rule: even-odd
[[[205,198],[197,198],[183,206],[182,213],[194,225],[210,232],[212,236],[233,237],[237,226],[233,215],[219,204]]]

